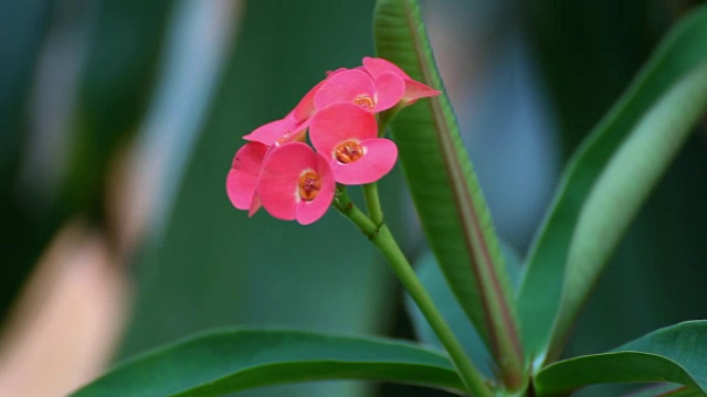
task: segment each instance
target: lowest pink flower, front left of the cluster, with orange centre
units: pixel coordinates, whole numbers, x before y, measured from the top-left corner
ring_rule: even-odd
[[[263,207],[283,221],[308,225],[331,205],[335,182],[327,160],[305,143],[274,147],[257,179]]]

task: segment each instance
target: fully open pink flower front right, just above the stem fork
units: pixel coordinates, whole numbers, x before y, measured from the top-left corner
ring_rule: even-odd
[[[309,138],[328,159],[336,182],[342,184],[376,182],[398,159],[395,143],[378,138],[376,116],[349,103],[317,111],[309,122]]]

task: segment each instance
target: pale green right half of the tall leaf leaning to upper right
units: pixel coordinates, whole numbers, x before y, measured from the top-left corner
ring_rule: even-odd
[[[629,223],[705,110],[707,62],[659,99],[606,164],[584,203],[570,244],[551,353],[562,345]]]

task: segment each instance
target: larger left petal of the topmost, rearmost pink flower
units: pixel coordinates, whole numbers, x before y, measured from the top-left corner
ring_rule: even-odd
[[[358,97],[376,99],[376,84],[366,72],[348,69],[333,73],[314,97],[317,109],[335,103],[352,103]]]

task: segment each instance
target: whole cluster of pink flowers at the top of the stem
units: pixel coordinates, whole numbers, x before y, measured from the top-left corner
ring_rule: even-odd
[[[382,58],[330,72],[284,118],[243,137],[229,198],[251,216],[263,206],[278,219],[310,224],[328,210],[336,183],[372,183],[395,164],[398,148],[379,137],[377,114],[439,94]]]

